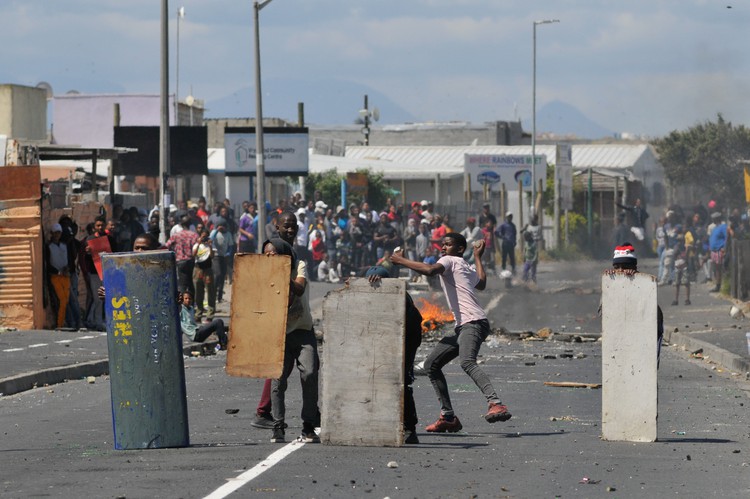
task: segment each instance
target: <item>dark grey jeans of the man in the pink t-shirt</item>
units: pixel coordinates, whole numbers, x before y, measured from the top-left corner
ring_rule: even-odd
[[[430,383],[440,400],[440,414],[453,416],[453,406],[448,392],[448,383],[443,375],[443,366],[456,357],[461,362],[461,369],[474,381],[482,391],[488,403],[499,404],[495,388],[489,376],[477,365],[479,347],[490,334],[490,323],[487,319],[467,322],[456,327],[455,332],[444,337],[427,356],[424,368]]]

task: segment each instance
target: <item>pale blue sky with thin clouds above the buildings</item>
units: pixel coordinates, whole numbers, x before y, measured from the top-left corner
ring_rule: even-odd
[[[181,6],[179,94],[206,101],[210,116],[212,102],[253,86],[252,2],[169,2],[172,92]],[[156,94],[160,13],[157,0],[3,0],[0,83]],[[718,113],[750,123],[750,2],[730,0],[274,0],[260,13],[264,99],[287,88],[277,82],[301,82],[315,123],[316,92],[354,86],[418,121],[521,119],[530,130],[543,19],[560,22],[537,27],[537,111],[564,102],[649,137]],[[289,105],[273,115],[296,120],[299,96],[274,97]],[[325,102],[352,117],[361,104]],[[255,114],[249,97],[237,105]]]

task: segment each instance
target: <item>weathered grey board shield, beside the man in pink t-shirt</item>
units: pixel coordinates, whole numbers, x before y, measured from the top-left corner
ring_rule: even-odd
[[[403,444],[405,293],[399,279],[352,279],[323,301],[324,444]]]

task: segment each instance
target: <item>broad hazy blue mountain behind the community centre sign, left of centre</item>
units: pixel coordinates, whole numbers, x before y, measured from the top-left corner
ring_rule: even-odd
[[[378,108],[381,124],[416,121],[404,108],[373,88],[345,80],[264,80],[263,116],[297,121],[297,103],[305,103],[305,122],[351,124],[364,108]],[[243,118],[255,115],[255,88],[245,87],[226,97],[206,102],[207,118]]]

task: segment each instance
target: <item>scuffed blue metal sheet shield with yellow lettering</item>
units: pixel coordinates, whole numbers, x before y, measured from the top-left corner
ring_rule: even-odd
[[[115,449],[190,445],[175,256],[102,255]]]

